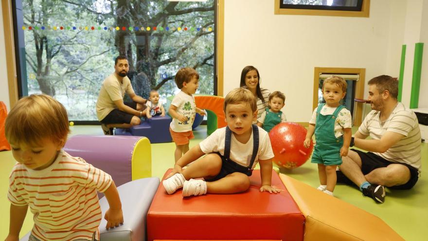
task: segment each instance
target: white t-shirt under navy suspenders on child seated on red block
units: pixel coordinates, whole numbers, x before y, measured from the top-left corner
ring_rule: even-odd
[[[260,127],[259,129],[259,149],[257,151],[256,158],[254,160],[254,164],[252,169],[258,163],[258,160],[267,160],[272,158],[273,151],[272,146],[270,145],[269,135],[266,130],[263,130]],[[199,143],[199,147],[202,152],[205,154],[219,152],[222,156],[224,156],[224,140],[226,138],[226,127],[215,130],[210,136],[208,136],[205,140]],[[251,132],[250,139],[247,143],[240,143],[235,138],[235,134],[232,132],[231,136],[231,153],[230,159],[234,162],[242,165],[244,167],[248,167],[250,165],[251,156],[252,156],[252,148],[253,148],[253,134]]]

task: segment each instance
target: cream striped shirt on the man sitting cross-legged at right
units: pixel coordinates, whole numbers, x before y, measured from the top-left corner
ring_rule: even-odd
[[[404,107],[400,102],[385,122],[380,121],[380,111],[370,111],[358,131],[363,135],[370,135],[372,139],[380,140],[386,131],[404,135],[384,153],[374,152],[376,155],[393,163],[407,163],[418,169],[421,174],[421,131],[415,113]]]

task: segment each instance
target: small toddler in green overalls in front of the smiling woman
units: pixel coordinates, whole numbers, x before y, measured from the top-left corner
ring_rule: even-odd
[[[285,95],[279,91],[275,91],[269,95],[269,109],[257,120],[257,126],[269,132],[272,128],[281,122],[286,122],[285,114],[281,109],[285,105]]]

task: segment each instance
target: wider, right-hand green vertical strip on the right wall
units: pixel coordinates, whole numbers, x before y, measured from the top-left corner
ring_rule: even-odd
[[[419,105],[419,91],[421,87],[423,53],[424,53],[424,43],[416,43],[415,54],[413,59],[413,75],[411,78],[410,109],[418,108],[418,105]]]

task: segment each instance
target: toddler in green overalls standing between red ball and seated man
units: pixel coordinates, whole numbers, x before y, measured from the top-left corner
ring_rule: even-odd
[[[351,112],[340,105],[345,97],[346,81],[332,75],[324,80],[322,95],[325,103],[320,104],[309,121],[304,147],[309,148],[315,132],[314,152],[311,163],[318,164],[321,185],[319,190],[333,196],[336,186],[336,167],[342,164],[342,156],[348,155],[351,142]]]

